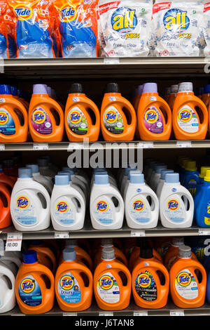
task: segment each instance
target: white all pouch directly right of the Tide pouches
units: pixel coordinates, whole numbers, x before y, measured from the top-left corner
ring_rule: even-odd
[[[98,25],[102,56],[147,56],[152,0],[99,0]]]

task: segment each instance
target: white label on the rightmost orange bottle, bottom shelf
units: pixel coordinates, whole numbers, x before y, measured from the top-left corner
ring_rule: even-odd
[[[182,298],[191,300],[198,297],[197,280],[188,269],[182,270],[176,276],[175,289]]]

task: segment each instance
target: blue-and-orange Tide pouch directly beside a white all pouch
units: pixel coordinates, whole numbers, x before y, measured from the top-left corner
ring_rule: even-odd
[[[63,58],[97,57],[97,1],[54,1]]]

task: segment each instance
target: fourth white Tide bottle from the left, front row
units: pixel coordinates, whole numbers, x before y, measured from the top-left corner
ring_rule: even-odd
[[[125,218],[130,228],[154,228],[158,225],[159,202],[155,192],[144,183],[144,174],[130,171],[125,195]]]

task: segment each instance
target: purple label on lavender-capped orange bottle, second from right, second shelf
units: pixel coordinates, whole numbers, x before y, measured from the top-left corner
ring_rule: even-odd
[[[151,133],[159,134],[163,132],[162,114],[156,107],[148,107],[144,113],[144,126]]]

